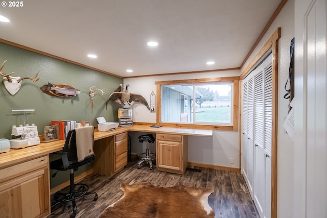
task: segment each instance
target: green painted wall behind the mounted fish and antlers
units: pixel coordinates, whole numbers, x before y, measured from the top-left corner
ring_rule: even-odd
[[[116,122],[119,105],[108,103],[106,110],[105,102],[113,90],[123,83],[122,78],[0,43],[0,64],[5,60],[8,61],[2,69],[4,74],[14,71],[12,76],[34,77],[39,71],[40,79],[35,83],[23,80],[15,95],[9,94],[3,83],[0,83],[0,138],[11,139],[12,125],[24,124],[24,112],[12,112],[12,109],[35,109],[34,112],[27,113],[26,123],[34,123],[38,127],[39,135],[43,134],[44,126],[49,126],[51,120],[90,120],[92,125],[97,126],[96,117],[104,116],[107,122]],[[81,90],[81,94],[72,98],[45,94],[40,87],[48,82],[69,84]],[[104,95],[95,95],[93,108],[89,96],[91,86],[105,89]],[[89,166],[80,169],[78,173],[87,168]],[[61,174],[64,173],[60,172],[55,180],[51,179],[51,187],[68,178],[60,176]]]

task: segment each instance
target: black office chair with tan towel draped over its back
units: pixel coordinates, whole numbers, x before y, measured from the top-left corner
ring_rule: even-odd
[[[54,203],[51,205],[51,208],[54,209],[56,206],[60,206],[60,204],[72,202],[72,218],[75,217],[77,212],[76,199],[92,194],[95,195],[94,201],[98,200],[98,194],[96,192],[88,192],[88,185],[82,183],[74,184],[74,172],[78,170],[78,167],[89,163],[95,158],[93,143],[93,126],[71,130],[68,132],[62,152],[59,153],[61,158],[50,162],[50,169],[57,169],[57,172],[71,169],[70,185],[54,194]],[[52,177],[55,177],[57,172]]]

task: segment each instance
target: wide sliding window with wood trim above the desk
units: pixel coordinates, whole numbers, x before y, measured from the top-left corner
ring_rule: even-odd
[[[155,82],[157,123],[238,130],[239,77]]]

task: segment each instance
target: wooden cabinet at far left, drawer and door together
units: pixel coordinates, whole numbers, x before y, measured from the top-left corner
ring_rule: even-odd
[[[50,215],[49,156],[0,169],[1,217]]]

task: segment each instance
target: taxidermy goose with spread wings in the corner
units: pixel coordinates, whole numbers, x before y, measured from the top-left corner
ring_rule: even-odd
[[[129,92],[128,86],[129,84],[126,85],[126,89],[124,90],[123,84],[120,84],[120,86],[110,94],[106,102],[106,109],[107,109],[108,102],[112,101],[123,105],[124,108],[131,106],[134,102],[137,102],[145,105],[148,108],[148,110],[150,110],[147,100],[145,100],[145,98],[143,98],[141,94],[134,94]]]

